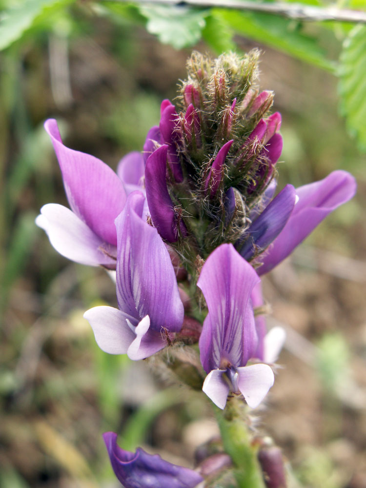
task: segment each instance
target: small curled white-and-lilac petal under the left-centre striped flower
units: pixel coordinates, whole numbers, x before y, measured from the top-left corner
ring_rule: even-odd
[[[150,318],[143,317],[135,328],[135,339],[128,347],[127,356],[133,361],[148,358],[167,345],[161,332],[150,329]]]

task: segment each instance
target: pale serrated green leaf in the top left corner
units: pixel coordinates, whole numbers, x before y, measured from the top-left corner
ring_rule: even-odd
[[[17,41],[46,6],[59,0],[25,0],[1,14],[0,49]]]

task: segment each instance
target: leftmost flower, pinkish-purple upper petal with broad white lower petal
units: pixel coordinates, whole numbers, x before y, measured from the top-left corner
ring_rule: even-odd
[[[41,208],[36,224],[66,258],[114,268],[117,244],[114,220],[126,201],[123,183],[101,160],[64,146],[54,119],[47,120],[44,127],[59,160],[72,211],[49,203]]]

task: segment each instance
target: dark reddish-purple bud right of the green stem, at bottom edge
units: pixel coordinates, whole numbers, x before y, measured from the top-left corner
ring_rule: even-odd
[[[262,447],[258,452],[258,460],[267,488],[287,487],[284,460],[279,447]]]

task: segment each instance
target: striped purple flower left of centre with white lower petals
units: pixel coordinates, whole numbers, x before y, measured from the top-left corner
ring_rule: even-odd
[[[116,219],[119,309],[97,306],[84,317],[98,346],[133,360],[168,344],[183,324],[183,303],[170,256],[157,230],[142,219],[144,197],[133,192]]]

